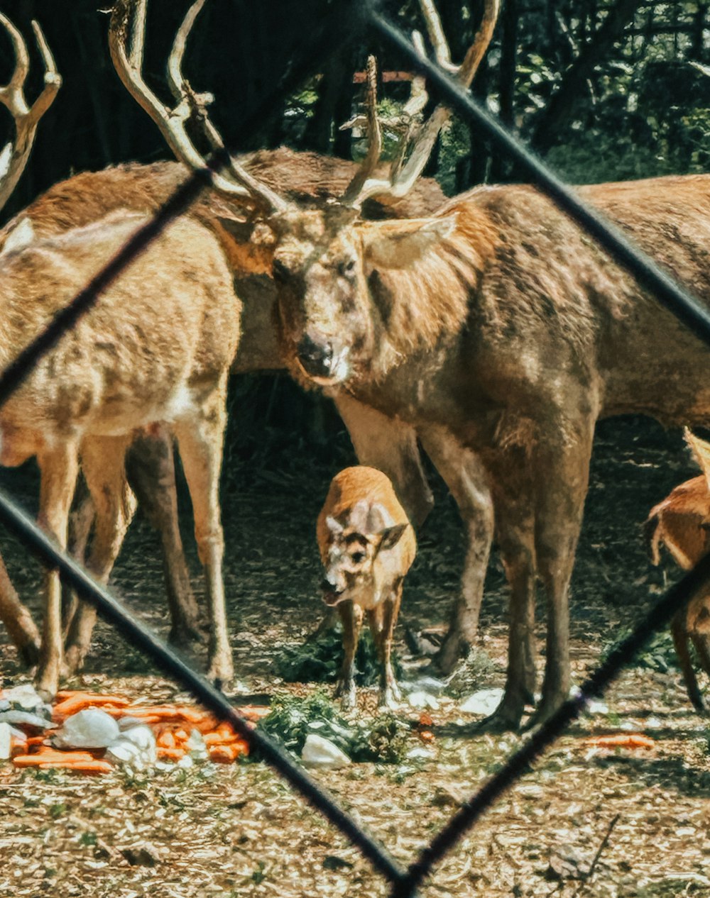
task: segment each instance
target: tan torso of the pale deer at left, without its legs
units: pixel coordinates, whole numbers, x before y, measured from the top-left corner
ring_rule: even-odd
[[[145,222],[121,213],[2,256],[0,367]],[[226,376],[240,313],[214,235],[188,219],[169,225],[0,410],[3,463],[53,437],[120,433],[180,417]]]

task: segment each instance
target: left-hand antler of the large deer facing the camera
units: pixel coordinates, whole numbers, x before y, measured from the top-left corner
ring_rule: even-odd
[[[187,39],[204,4],[205,0],[196,0],[191,5],[175,35],[173,49],[168,59],[168,84],[176,103],[174,109],[168,109],[157,99],[141,75],[147,0],[118,0],[113,7],[109,26],[109,48],[113,65],[131,96],[160,128],[160,133],[177,159],[190,169],[208,172],[215,189],[231,196],[255,199],[269,211],[282,212],[288,207],[286,201],[254,179],[234,156],[226,154],[224,142],[207,113],[209,103],[214,100],[212,94],[194,92],[182,75],[182,57]],[[130,49],[127,47],[129,39]],[[190,121],[198,125],[213,150],[226,155],[227,164],[222,172],[210,168],[204,156],[192,143],[187,133],[187,124]]]

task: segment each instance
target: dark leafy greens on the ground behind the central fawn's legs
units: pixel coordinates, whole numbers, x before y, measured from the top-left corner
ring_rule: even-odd
[[[286,682],[335,682],[342,666],[342,634],[340,627],[328,629],[317,639],[299,646],[288,646],[274,658],[274,671]],[[392,665],[399,676],[402,667],[393,652]],[[379,681],[377,649],[369,630],[360,635],[355,653],[355,682],[374,686]]]

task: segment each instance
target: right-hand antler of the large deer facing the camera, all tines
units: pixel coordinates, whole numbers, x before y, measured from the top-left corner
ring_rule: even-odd
[[[458,83],[464,89],[469,88],[471,82],[474,80],[476,70],[478,69],[478,66],[480,66],[485,51],[493,37],[493,29],[498,20],[498,13],[500,12],[501,7],[500,0],[485,0],[484,16],[481,25],[475,34],[474,42],[466,51],[466,56],[460,66],[455,66],[451,62],[451,53],[448,48],[447,40],[444,37],[439,13],[436,11],[433,0],[420,0],[420,6],[422,7],[422,14],[427,25],[429,39],[434,48],[434,55],[439,66],[442,66],[451,75],[454,75]],[[422,41],[416,32],[414,43],[420,52],[422,52]],[[373,135],[376,130],[377,134],[379,134],[379,123],[376,124],[377,97],[375,95],[374,85],[375,77],[373,75],[370,79],[368,65],[367,103],[368,128],[370,130],[370,135]],[[404,110],[408,115],[413,115],[413,112],[408,109],[410,105],[414,110],[422,109],[424,102],[426,101],[426,93],[423,94],[423,97],[424,100],[422,101],[421,90],[416,96],[413,92],[413,96],[404,107]],[[382,194],[387,194],[392,197],[404,197],[404,195],[412,189],[414,181],[417,180],[422,173],[424,166],[430,157],[431,150],[436,143],[437,136],[439,136],[439,131],[448,121],[450,114],[451,110],[449,110],[447,106],[439,104],[439,106],[437,106],[431,113],[429,120],[417,130],[417,133],[413,138],[413,128],[408,129],[408,133],[404,136],[404,140],[400,146],[400,151],[390,168],[389,178],[386,180],[371,177],[379,162],[380,151],[377,151],[377,156],[374,153],[368,152],[359,172],[357,172],[355,177],[351,180],[351,183],[345,189],[345,192],[342,194],[340,200],[342,204],[344,206],[359,207],[368,197]],[[380,140],[378,137],[376,139],[377,145],[379,146]],[[410,144],[411,147],[409,146]],[[406,162],[404,162],[408,149],[409,156],[406,159]]]

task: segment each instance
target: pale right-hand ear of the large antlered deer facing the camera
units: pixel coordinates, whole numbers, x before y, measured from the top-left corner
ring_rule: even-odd
[[[456,215],[373,223],[363,237],[366,258],[376,269],[406,269],[446,240],[456,223]]]

